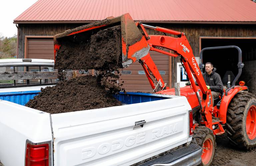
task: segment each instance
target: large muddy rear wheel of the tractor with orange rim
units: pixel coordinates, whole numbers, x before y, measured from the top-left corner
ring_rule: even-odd
[[[239,91],[227,110],[227,133],[240,149],[251,150],[256,146],[256,97],[247,91]]]

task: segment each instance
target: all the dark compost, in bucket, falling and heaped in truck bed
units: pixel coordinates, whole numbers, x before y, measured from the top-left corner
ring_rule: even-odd
[[[63,40],[55,63],[61,81],[41,89],[26,106],[50,114],[120,106],[112,94],[121,90],[117,86],[121,62],[120,26],[101,30],[86,41]],[[97,76],[65,80],[63,69],[96,69]]]

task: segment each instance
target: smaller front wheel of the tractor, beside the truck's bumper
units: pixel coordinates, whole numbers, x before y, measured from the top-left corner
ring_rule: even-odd
[[[213,131],[205,126],[198,126],[194,130],[192,143],[202,147],[201,166],[209,166],[214,160],[216,149],[215,135]]]

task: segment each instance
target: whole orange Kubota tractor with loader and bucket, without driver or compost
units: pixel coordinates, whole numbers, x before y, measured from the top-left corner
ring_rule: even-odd
[[[180,88],[181,96],[185,96],[193,110],[193,142],[202,147],[202,165],[210,165],[213,161],[215,152],[215,135],[228,134],[231,142],[238,147],[251,149],[256,146],[256,98],[248,92],[244,82],[235,85],[241,75],[243,63],[241,49],[239,51],[239,74],[233,81],[232,86],[223,90],[223,95],[217,99],[212,98],[211,90],[206,87],[205,80],[200,70],[204,67],[199,65],[193,55],[192,48],[182,32],[177,32],[161,27],[153,27],[134,22],[129,14],[119,17],[111,17],[105,20],[95,22],[68,30],[65,33],[54,36],[55,56],[62,45],[62,40],[78,42],[86,40],[91,34],[97,31],[107,29],[113,26],[121,26],[121,67],[127,67],[138,60],[149,80],[151,87],[157,94],[174,95],[174,88],[166,87],[149,51],[157,51],[172,57],[179,57],[186,70],[190,85]],[[154,29],[163,32],[164,35],[148,35],[145,28]],[[175,37],[166,36],[171,34]],[[228,47],[213,47],[206,49],[220,49]],[[170,51],[165,51],[168,49]],[[195,80],[196,82],[195,82]],[[197,85],[196,85],[197,83]],[[159,91],[158,91],[158,90]],[[214,104],[213,105],[213,100]]]

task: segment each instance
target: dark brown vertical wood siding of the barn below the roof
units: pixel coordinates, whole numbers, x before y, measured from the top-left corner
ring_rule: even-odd
[[[250,24],[147,24],[184,32],[195,56],[199,56],[199,37],[256,37],[256,26]],[[53,36],[81,25],[84,24],[19,24],[18,57],[24,58],[25,36]],[[163,34],[152,29],[147,29],[147,32],[150,35]],[[171,58],[172,87],[176,81],[177,61],[179,58]]]

